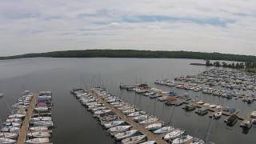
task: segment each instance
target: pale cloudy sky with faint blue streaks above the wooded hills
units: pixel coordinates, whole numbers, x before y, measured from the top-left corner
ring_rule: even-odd
[[[1,0],[0,56],[56,50],[256,55],[255,0]]]

